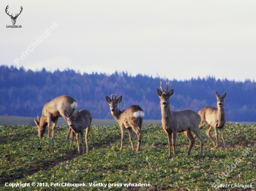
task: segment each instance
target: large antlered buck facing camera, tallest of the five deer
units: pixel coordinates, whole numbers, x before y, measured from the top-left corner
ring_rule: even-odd
[[[170,97],[174,93],[174,89],[169,89],[169,83],[166,85],[166,90],[162,88],[162,82],[160,83],[160,88],[156,89],[156,94],[160,97],[161,113],[162,113],[162,127],[168,135],[168,146],[169,146],[169,158],[171,155],[171,143],[173,136],[173,154],[175,154],[176,146],[176,135],[177,133],[184,132],[184,134],[189,138],[189,150],[190,154],[191,148],[194,145],[195,139],[191,134],[191,131],[196,134],[200,140],[200,155],[202,155],[203,150],[203,138],[199,129],[199,124],[201,122],[201,117],[196,112],[192,110],[181,110],[181,111],[171,111],[170,107]]]

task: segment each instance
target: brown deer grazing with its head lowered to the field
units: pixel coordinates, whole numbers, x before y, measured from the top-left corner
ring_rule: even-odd
[[[76,101],[70,96],[56,97],[52,101],[45,104],[42,110],[41,119],[39,115],[37,115],[38,121],[34,119],[34,122],[38,127],[39,138],[41,139],[43,137],[47,125],[48,125],[48,138],[50,138],[51,121],[53,121],[52,128],[53,128],[53,138],[54,138],[54,129],[58,121],[58,118],[63,116],[64,119],[67,121],[67,118],[64,115],[64,111],[66,110],[71,115],[73,115],[76,106],[77,106]],[[71,132],[71,128],[69,128],[67,138],[70,132]]]

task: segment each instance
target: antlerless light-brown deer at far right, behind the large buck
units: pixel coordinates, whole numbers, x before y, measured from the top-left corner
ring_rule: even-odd
[[[224,126],[225,126],[225,123],[226,123],[226,115],[225,115],[224,107],[225,107],[226,92],[224,92],[223,95],[220,96],[220,94],[216,91],[216,97],[217,97],[217,107],[218,108],[205,107],[205,108],[202,108],[198,112],[198,114],[202,118],[202,121],[199,125],[199,128],[202,128],[205,124],[209,125],[209,127],[206,131],[206,134],[209,137],[209,139],[212,141],[212,144],[215,147],[218,146],[217,128],[219,128],[220,131],[221,131],[221,137],[222,137],[222,140],[223,140],[224,148],[226,148],[226,143],[225,143],[225,140],[224,140]],[[212,127],[214,127],[214,131],[215,131],[216,144],[212,140],[212,137],[211,137],[211,134],[210,134]]]

